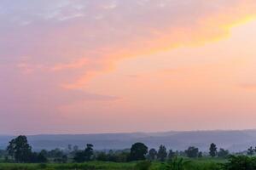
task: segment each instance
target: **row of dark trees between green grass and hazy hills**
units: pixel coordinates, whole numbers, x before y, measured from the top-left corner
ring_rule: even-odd
[[[60,149],[55,150],[41,150],[35,152],[32,150],[32,146],[28,143],[26,136],[18,136],[15,139],[9,141],[9,145],[6,150],[0,150],[0,155],[5,155],[5,161],[14,162],[47,162],[55,161],[65,163],[67,161],[84,162],[84,161],[166,161],[172,160],[177,156],[187,156],[189,158],[197,158],[203,156],[212,157],[227,157],[230,155],[229,150],[220,148],[218,150],[216,144],[209,145],[209,152],[203,153],[195,146],[189,146],[187,150],[173,151],[167,150],[166,146],[161,144],[160,147],[155,150],[154,148],[148,149],[148,146],[143,143],[135,143],[131,145],[131,149],[128,150],[108,150],[99,151],[93,149],[93,144],[86,144],[84,150],[79,150],[78,146],[72,147],[68,144],[67,151]],[[247,150],[248,156],[253,156],[256,152],[256,148],[250,147]]]

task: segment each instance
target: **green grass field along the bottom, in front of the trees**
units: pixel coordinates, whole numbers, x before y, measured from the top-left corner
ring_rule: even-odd
[[[189,160],[186,170],[218,170],[218,164],[224,160],[219,159],[193,159]],[[0,163],[0,170],[136,170],[137,162],[115,163],[103,161],[90,161],[86,163],[47,163],[47,164],[18,164],[18,163]],[[162,169],[161,162],[154,161],[151,170]]]

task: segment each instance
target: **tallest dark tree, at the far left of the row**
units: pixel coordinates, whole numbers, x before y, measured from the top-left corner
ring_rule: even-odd
[[[28,162],[32,156],[32,147],[28,144],[26,136],[20,135],[12,139],[6,150],[16,162]]]

